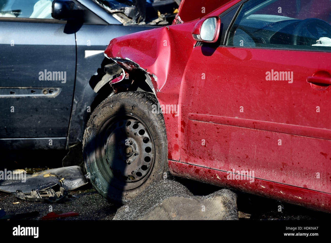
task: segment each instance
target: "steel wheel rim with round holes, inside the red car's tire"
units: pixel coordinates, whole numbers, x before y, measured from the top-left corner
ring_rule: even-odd
[[[155,146],[144,122],[133,114],[109,118],[97,136],[97,165],[102,176],[119,189],[145,182],[154,166]],[[104,173],[102,173],[104,172]]]

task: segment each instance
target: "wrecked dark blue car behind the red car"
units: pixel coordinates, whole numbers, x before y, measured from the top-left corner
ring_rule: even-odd
[[[171,23],[177,7],[173,0],[0,0],[0,149],[81,151],[86,121],[120,72],[104,57],[109,41]]]

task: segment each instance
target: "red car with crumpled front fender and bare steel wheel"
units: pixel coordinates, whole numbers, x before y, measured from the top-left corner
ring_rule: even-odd
[[[329,0],[182,0],[113,39],[87,124],[91,182],[126,202],[172,175],[331,212]]]

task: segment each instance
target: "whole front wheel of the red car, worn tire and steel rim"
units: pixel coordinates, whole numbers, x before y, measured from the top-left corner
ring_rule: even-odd
[[[124,204],[167,175],[166,126],[157,105],[152,94],[122,92],[91,114],[83,158],[91,183],[107,200]]]

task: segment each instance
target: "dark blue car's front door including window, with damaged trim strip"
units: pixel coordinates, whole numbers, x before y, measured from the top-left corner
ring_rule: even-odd
[[[67,136],[76,42],[51,6],[0,0],[0,139]]]

